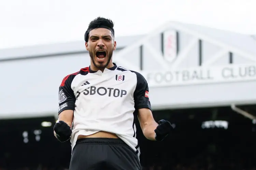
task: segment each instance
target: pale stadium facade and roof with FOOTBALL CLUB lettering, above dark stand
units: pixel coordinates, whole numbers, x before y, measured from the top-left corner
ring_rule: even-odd
[[[116,41],[113,61],[144,75],[154,110],[256,103],[251,36],[169,22]],[[62,79],[89,61],[83,40],[0,50],[0,119],[56,117]]]

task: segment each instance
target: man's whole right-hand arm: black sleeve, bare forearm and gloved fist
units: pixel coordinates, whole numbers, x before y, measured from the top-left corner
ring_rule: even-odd
[[[160,120],[159,124],[154,120],[147,81],[140,73],[136,75],[137,86],[133,97],[142,132],[149,140],[162,140],[172,131],[172,125],[166,120]]]

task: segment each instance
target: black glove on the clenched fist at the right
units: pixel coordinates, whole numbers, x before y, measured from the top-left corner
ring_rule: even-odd
[[[163,140],[171,131],[173,127],[169,121],[160,120],[159,125],[155,129],[155,139],[158,141]]]

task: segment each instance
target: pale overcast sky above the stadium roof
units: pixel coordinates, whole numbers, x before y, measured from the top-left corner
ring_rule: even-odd
[[[115,22],[116,36],[146,34],[167,21],[256,34],[255,6],[255,0],[3,0],[0,48],[83,40],[97,16]]]

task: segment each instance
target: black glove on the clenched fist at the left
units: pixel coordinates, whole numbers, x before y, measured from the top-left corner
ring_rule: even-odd
[[[64,121],[59,121],[54,125],[54,131],[56,133],[56,138],[61,141],[65,142],[69,140],[72,130],[70,129],[70,126],[65,123]]]

